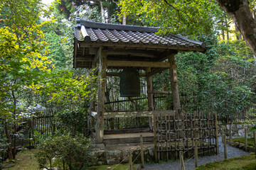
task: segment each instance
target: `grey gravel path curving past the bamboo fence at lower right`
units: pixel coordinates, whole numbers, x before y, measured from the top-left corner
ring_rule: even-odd
[[[222,161],[224,159],[224,146],[223,142],[221,142],[221,138],[219,139],[219,149],[220,154],[217,156],[210,156],[210,157],[198,157],[198,166],[201,164],[207,164],[209,162],[215,162],[215,161]],[[230,147],[227,145],[227,154],[228,158],[232,157],[241,157],[242,155],[249,154],[248,152],[245,152],[241,149]],[[195,162],[194,159],[191,159],[190,161],[184,160],[186,170],[192,170],[195,168]],[[162,164],[146,164],[144,170],[169,170],[169,169],[180,169],[180,162],[167,162]]]

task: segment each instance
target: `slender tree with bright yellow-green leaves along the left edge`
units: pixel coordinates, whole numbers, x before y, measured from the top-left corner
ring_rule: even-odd
[[[17,113],[19,99],[38,89],[40,81],[53,68],[47,57],[48,50],[44,48],[46,42],[41,30],[50,21],[38,23],[44,12],[39,0],[3,0],[0,1],[0,11],[5,15],[4,27],[0,28],[0,116],[11,159],[16,153],[16,128],[23,118]]]

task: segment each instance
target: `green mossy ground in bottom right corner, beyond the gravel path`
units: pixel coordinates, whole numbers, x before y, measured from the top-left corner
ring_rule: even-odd
[[[244,155],[242,157],[235,157],[231,159],[225,159],[221,162],[213,162],[205,165],[198,166],[197,170],[238,170],[238,169],[247,169],[254,170],[256,169],[256,159],[255,154]]]

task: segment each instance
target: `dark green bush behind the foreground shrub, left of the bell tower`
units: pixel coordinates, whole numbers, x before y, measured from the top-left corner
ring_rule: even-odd
[[[55,124],[58,132],[65,134],[70,132],[70,135],[85,134],[87,128],[88,111],[84,108],[68,108],[58,112],[55,115]]]

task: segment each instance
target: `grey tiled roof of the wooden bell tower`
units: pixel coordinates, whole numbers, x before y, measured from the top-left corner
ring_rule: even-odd
[[[110,23],[96,23],[77,19],[75,40],[77,42],[140,44],[166,47],[197,48],[206,50],[206,43],[184,38],[181,35],[156,35],[159,28],[124,26]],[[177,49],[178,50],[178,49]]]

